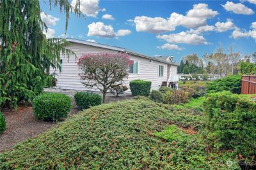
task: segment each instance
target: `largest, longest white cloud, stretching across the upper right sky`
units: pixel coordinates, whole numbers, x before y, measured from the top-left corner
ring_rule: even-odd
[[[173,12],[170,18],[137,16],[134,18],[134,23],[136,31],[161,33],[174,31],[177,26],[196,29],[205,25],[207,18],[212,18],[216,15],[218,15],[218,11],[213,11],[208,8],[207,4],[200,3],[194,4],[193,9],[189,10],[186,15]],[[131,21],[129,20],[129,22]]]

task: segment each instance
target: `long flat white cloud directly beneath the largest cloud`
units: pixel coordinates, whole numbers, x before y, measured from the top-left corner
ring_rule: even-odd
[[[184,43],[190,45],[200,45],[205,44],[207,45],[207,41],[203,36],[198,34],[191,34],[188,32],[179,32],[177,34],[169,34],[169,35],[158,35],[156,38],[164,39],[168,43]]]

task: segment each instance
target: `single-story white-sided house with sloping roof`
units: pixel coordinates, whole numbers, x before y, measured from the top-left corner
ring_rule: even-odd
[[[56,88],[66,90],[97,90],[86,89],[81,83],[79,67],[77,66],[78,57],[84,53],[99,53],[99,52],[124,52],[128,53],[133,61],[129,70],[129,76],[125,81],[129,87],[129,81],[140,79],[152,81],[152,89],[159,89],[161,85],[172,85],[176,87],[179,75],[177,74],[177,66],[179,64],[173,62],[173,57],[149,57],[141,53],[132,52],[125,48],[120,48],[111,45],[103,45],[100,43],[93,43],[90,41],[83,41],[79,39],[67,38],[70,46],[66,48],[76,53],[76,56],[65,57],[61,55],[61,71],[55,72],[57,78]]]

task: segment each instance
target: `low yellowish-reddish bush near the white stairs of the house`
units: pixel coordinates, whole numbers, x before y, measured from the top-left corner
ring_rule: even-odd
[[[168,104],[181,104],[189,101],[188,92],[182,90],[175,90],[174,92],[166,92],[164,95],[164,102]]]

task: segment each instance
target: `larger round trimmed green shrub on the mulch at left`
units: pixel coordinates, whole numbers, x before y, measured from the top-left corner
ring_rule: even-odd
[[[67,117],[72,105],[65,94],[43,93],[35,97],[32,106],[39,120],[58,122]]]

